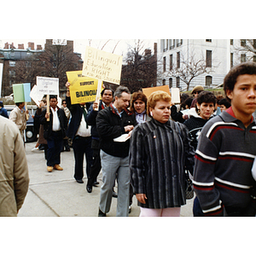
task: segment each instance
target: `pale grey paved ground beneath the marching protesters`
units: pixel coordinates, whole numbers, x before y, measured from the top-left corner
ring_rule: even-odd
[[[77,183],[73,178],[74,159],[73,149],[61,153],[63,171],[46,171],[46,161],[43,151],[33,151],[36,143],[26,143],[30,185],[26,200],[18,214],[19,217],[96,217],[102,185],[102,172],[98,177],[100,185],[93,187],[89,194],[86,189],[87,177],[84,183]],[[85,173],[85,169],[84,169]],[[115,188],[117,192],[117,187]],[[115,217],[117,199],[113,198],[109,217]],[[181,216],[192,216],[192,200],[182,207]],[[130,217],[139,216],[137,199],[133,196]]]

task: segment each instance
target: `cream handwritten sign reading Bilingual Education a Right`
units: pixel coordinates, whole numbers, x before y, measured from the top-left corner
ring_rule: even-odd
[[[120,84],[123,56],[86,47],[83,75],[113,84]]]

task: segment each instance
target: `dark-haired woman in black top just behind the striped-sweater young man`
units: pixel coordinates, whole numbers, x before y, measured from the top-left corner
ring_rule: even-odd
[[[189,129],[189,136],[192,139],[191,144],[195,148],[195,150],[203,126],[212,117],[212,113],[214,112],[215,108],[215,103],[216,97],[213,95],[211,91],[201,91],[201,93],[197,96],[197,103],[195,105],[195,110],[197,114],[191,116],[188,120],[186,120],[183,123]],[[195,197],[194,200],[193,214],[194,216],[197,217],[204,216],[204,214],[201,211],[201,206],[199,204],[197,197]]]

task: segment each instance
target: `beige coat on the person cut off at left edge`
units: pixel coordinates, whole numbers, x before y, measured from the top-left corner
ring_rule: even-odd
[[[0,116],[0,216],[17,216],[28,190],[28,167],[20,131]]]

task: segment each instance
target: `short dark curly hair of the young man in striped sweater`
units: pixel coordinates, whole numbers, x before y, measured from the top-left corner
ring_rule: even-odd
[[[230,72],[226,74],[224,78],[224,92],[227,95],[227,91],[233,91],[238,76],[243,74],[256,75],[256,63],[255,62],[243,62],[230,69]]]

